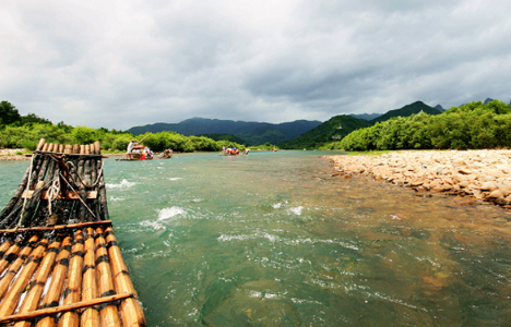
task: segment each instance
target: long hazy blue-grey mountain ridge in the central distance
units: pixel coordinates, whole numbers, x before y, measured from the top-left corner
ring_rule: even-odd
[[[280,124],[264,122],[246,122],[219,119],[192,118],[180,123],[155,123],[144,126],[134,126],[128,130],[135,135],[146,132],[174,131],[179,134],[233,134],[245,140],[248,144],[260,145],[266,142],[277,144],[292,140],[321,124],[320,121],[297,120]]]

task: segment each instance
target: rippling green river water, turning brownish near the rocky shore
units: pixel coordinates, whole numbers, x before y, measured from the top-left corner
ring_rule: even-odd
[[[504,326],[511,214],[332,178],[319,152],[106,159],[150,326]],[[0,206],[28,162],[0,164]]]

